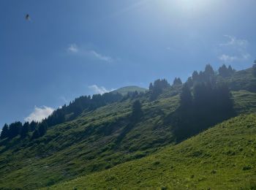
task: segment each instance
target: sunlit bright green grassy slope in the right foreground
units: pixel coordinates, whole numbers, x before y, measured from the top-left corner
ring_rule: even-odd
[[[178,145],[49,189],[255,189],[256,115],[220,123]]]

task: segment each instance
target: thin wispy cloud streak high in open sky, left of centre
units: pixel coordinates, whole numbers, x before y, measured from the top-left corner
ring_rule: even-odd
[[[72,53],[72,55],[75,56],[84,56],[87,58],[93,58],[99,61],[105,61],[105,62],[113,62],[114,59],[110,56],[105,56],[102,53],[97,52],[96,50],[88,50],[83,47],[78,47],[78,45],[71,44],[69,47],[67,47],[67,52]]]

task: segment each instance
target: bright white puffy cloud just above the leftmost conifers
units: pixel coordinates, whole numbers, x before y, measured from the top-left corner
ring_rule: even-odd
[[[34,107],[34,111],[29,114],[28,117],[24,119],[24,121],[42,121],[44,118],[47,118],[50,114],[52,114],[54,111],[53,107]]]

